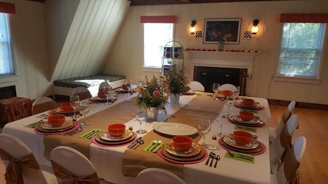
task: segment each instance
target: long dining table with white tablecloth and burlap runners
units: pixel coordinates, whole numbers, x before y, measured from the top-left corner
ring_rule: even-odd
[[[34,116],[17,120],[6,124],[3,129],[4,133],[12,134],[22,140],[33,152],[38,163],[51,167],[49,155],[51,150],[56,146],[70,146],[81,153],[85,154],[95,167],[98,177],[103,178],[112,183],[133,183],[136,175],[142,169],[149,167],[158,167],[167,169],[180,176],[187,183],[270,183],[270,160],[269,160],[269,125],[268,119],[271,117],[269,104],[266,99],[252,98],[262,105],[261,110],[256,110],[255,116],[259,117],[264,124],[257,128],[254,135],[258,136],[257,141],[263,144],[265,148],[261,154],[255,155],[254,163],[241,162],[240,160],[225,157],[226,149],[219,144],[218,139],[212,139],[219,131],[219,124],[216,120],[217,112],[220,109],[228,109],[225,101],[213,100],[210,93],[197,93],[197,95],[182,95],[178,104],[168,104],[166,106],[167,113],[159,112],[157,121],[142,122],[142,129],[146,129],[148,133],[135,133],[139,129],[139,122],[135,118],[136,106],[133,105],[137,93],[127,96],[126,94],[118,94],[116,101],[110,105],[103,102],[93,102],[90,104],[90,111],[87,114],[86,121],[89,126],[84,126],[82,132],[78,132],[72,136],[63,134],[40,134],[35,128],[25,127],[33,122],[39,121],[42,114],[50,114],[51,111],[35,114]],[[86,99],[85,101],[90,101]],[[234,106],[230,113],[237,115],[240,111],[239,107]],[[212,128],[206,135],[206,143],[214,145],[216,149],[204,149],[206,156],[210,151],[216,155],[220,155],[217,167],[209,167],[206,160],[201,162],[177,164],[169,162],[159,154],[142,151],[153,140],[162,140],[169,142],[172,137],[162,135],[155,132],[153,127],[160,123],[182,123],[190,125],[197,129],[196,136],[193,141],[199,145],[202,143],[202,135],[198,130],[198,121],[200,118],[209,118],[212,122]],[[67,116],[67,120],[71,117]],[[78,118],[77,122],[83,122],[83,117]],[[112,123],[124,123],[126,127],[133,127],[136,138],[142,137],[145,140],[144,145],[140,145],[137,149],[127,148],[129,144],[124,146],[99,146],[92,139],[83,139],[80,135],[94,128],[106,130],[107,126]],[[235,124],[227,121],[223,126],[223,133],[230,134],[235,130]],[[214,160],[215,162],[215,160]]]

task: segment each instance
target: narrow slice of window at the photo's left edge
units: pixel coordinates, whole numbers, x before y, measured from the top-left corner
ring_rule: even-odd
[[[0,13],[0,77],[15,75],[7,13]]]

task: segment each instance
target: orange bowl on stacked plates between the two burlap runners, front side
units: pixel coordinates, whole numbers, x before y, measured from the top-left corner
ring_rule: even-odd
[[[108,125],[107,130],[99,131],[91,138],[94,144],[101,147],[125,146],[136,139],[137,134],[132,130],[126,129],[125,124],[120,123]]]

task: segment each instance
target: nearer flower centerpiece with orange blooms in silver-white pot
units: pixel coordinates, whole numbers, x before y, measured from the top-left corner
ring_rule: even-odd
[[[165,105],[169,101],[169,96],[166,93],[165,86],[161,85],[161,78],[159,81],[153,75],[153,78],[148,81],[146,76],[146,84],[141,85],[138,96],[135,100],[135,105],[145,108],[147,120],[157,120],[158,111],[166,113]]]

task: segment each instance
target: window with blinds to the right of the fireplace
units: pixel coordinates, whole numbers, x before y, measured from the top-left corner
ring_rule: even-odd
[[[284,23],[278,75],[318,78],[326,24]]]

